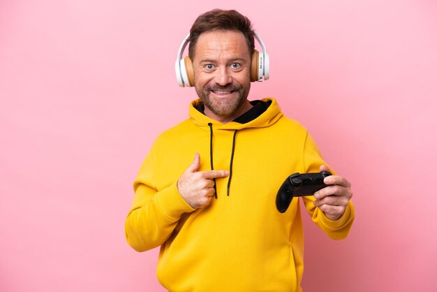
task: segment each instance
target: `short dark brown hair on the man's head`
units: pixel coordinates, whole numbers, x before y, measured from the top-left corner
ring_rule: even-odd
[[[252,55],[255,50],[255,33],[249,18],[239,13],[237,10],[214,9],[199,15],[190,30],[188,55],[194,59],[195,45],[200,34],[206,31],[241,31],[246,38],[249,52]]]

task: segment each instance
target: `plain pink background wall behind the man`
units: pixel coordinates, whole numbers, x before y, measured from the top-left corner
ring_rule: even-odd
[[[124,219],[151,143],[195,98],[179,44],[217,5],[0,0],[0,291],[163,291],[158,249],[128,247]],[[219,7],[271,57],[249,98],[276,97],[353,183],[348,239],[304,214],[304,291],[437,291],[436,1]]]

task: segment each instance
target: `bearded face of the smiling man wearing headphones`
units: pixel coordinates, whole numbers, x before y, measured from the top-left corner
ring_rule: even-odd
[[[251,106],[251,56],[239,31],[208,31],[201,34],[193,60],[195,91],[205,114],[232,120]]]

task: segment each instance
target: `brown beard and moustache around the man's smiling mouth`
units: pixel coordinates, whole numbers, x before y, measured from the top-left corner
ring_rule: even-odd
[[[248,88],[244,88],[239,84],[229,84],[225,86],[221,85],[205,85],[203,88],[195,87],[195,92],[198,94],[202,103],[209,110],[214,112],[218,117],[230,117],[244,104],[249,96],[249,89],[251,85],[249,83]],[[212,98],[211,92],[214,91],[230,91],[232,94],[237,94],[237,98],[223,99]]]

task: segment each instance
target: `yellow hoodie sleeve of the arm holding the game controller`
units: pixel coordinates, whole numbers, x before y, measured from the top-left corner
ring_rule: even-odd
[[[304,164],[304,170],[306,173],[318,173],[319,167],[322,164],[328,166],[325,161],[323,161],[322,155],[316,146],[313,138],[310,136],[308,132],[306,132],[303,152],[302,152],[302,161]],[[331,170],[332,168],[328,166]],[[313,196],[305,196],[302,197],[304,200],[304,204],[306,210],[311,215],[313,222],[316,223],[328,236],[334,240],[341,240],[348,236],[350,228],[352,227],[353,220],[355,218],[355,210],[353,207],[353,203],[350,200],[348,207],[342,217],[338,220],[332,221],[328,219],[325,214],[316,207],[313,202],[316,200]]]

